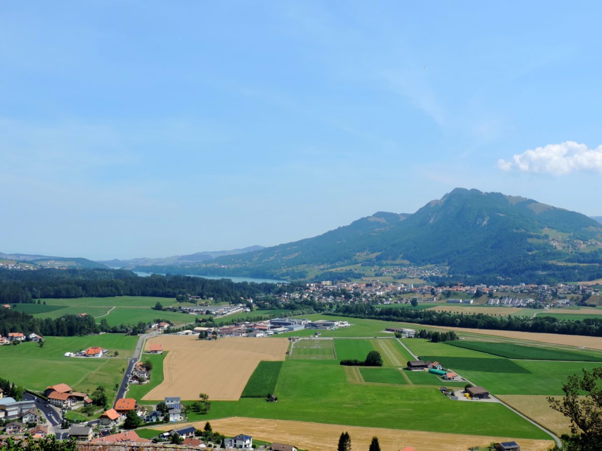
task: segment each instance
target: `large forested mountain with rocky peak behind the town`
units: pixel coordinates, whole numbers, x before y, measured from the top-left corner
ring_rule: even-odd
[[[187,271],[213,274],[226,266],[230,275],[304,278],[358,263],[411,263],[445,264],[452,275],[491,280],[591,280],[602,277],[600,244],[602,225],[581,213],[456,188],[412,214],[374,213],[314,238],[217,257]]]

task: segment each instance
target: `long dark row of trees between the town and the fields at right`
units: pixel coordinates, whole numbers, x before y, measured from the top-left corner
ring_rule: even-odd
[[[329,312],[326,312],[329,314]],[[550,316],[490,316],[482,313],[462,314],[409,308],[375,308],[370,304],[341,305],[338,315],[353,318],[382,319],[383,321],[413,322],[446,327],[467,327],[491,330],[514,330],[550,334],[602,337],[602,319],[567,320]]]

